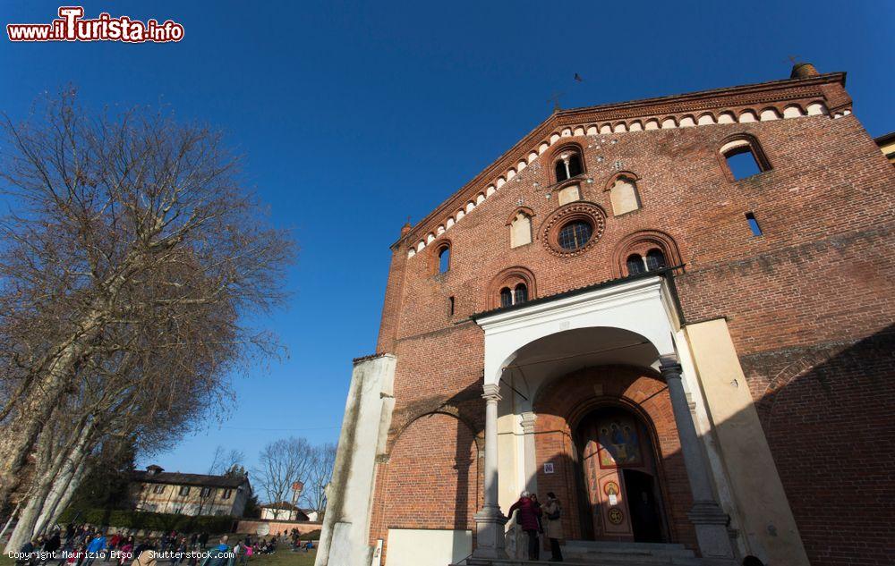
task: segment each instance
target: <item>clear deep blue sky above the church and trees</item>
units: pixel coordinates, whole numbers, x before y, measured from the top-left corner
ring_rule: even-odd
[[[81,4],[81,3],[79,3]],[[0,5],[3,23],[59,4]],[[0,40],[0,111],[76,85],[89,106],[165,104],[215,124],[301,250],[288,308],[262,324],[289,358],[235,384],[238,401],[153,457],[202,472],[217,444],[335,441],[351,359],[375,349],[388,246],[550,114],[788,77],[789,55],[848,72],[855,114],[895,130],[895,2],[82,3],[183,24],[177,44]],[[584,82],[572,80],[577,72]],[[147,461],[142,464],[149,463]]]

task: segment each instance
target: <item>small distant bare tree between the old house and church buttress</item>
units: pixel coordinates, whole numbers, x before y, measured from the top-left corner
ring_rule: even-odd
[[[268,497],[268,503],[287,501],[296,481],[303,481],[314,460],[314,449],[304,438],[283,438],[268,443],[260,452],[252,477]]]

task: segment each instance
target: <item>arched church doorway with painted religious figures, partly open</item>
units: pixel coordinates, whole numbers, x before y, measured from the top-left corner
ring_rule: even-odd
[[[578,426],[585,522],[595,540],[663,542],[661,490],[650,435],[634,413],[592,411]]]

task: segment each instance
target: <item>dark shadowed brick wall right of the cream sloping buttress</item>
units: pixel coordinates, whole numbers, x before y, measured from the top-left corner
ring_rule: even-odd
[[[895,325],[860,342],[741,359],[814,565],[895,554]]]

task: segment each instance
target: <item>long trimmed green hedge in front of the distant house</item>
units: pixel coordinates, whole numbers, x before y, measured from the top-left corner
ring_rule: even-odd
[[[201,532],[228,533],[233,527],[234,517],[229,515],[177,515],[175,513],[153,513],[149,511],[107,510],[107,509],[66,509],[59,517],[59,523],[75,520],[100,527],[132,528],[135,530],[157,530],[161,532]]]

